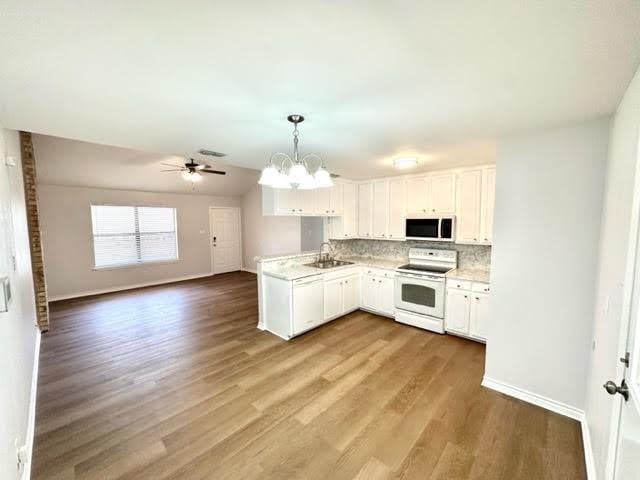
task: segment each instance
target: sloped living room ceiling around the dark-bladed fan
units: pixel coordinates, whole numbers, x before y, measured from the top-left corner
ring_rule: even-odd
[[[51,185],[116,188],[149,192],[195,193],[201,195],[244,195],[258,181],[258,171],[232,167],[194,155],[198,163],[211,165],[226,175],[203,173],[193,185],[180,172],[162,172],[163,163],[180,165],[184,157],[110,147],[48,135],[34,135],[33,149],[38,166],[38,182]]]

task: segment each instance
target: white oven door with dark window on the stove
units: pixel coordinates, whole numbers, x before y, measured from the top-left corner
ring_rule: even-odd
[[[444,318],[444,279],[396,273],[395,307],[408,312]]]

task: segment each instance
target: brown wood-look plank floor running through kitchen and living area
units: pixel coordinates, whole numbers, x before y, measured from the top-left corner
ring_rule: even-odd
[[[579,425],[484,346],[355,312],[290,342],[230,273],[51,305],[33,478],[583,479]]]

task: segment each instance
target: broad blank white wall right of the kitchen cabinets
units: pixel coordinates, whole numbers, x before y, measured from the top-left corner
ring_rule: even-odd
[[[609,121],[498,142],[485,376],[582,410]]]

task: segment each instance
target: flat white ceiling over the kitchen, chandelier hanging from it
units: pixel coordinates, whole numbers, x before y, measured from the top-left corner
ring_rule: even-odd
[[[635,0],[0,0],[0,123],[260,168],[301,149],[350,178],[483,163],[501,135],[611,114]]]

